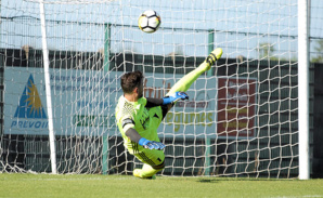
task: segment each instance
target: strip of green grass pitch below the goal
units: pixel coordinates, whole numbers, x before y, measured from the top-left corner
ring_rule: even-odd
[[[0,197],[323,197],[323,180],[2,173]]]

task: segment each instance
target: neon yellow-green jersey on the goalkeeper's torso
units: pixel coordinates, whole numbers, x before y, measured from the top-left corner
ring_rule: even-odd
[[[162,107],[146,108],[146,103],[145,97],[141,97],[138,102],[129,102],[125,96],[120,96],[118,100],[116,107],[117,126],[124,137],[124,145],[130,154],[142,151],[144,148],[125,134],[129,128],[133,128],[146,140],[159,142],[157,128],[163,120]]]

